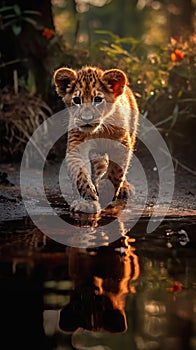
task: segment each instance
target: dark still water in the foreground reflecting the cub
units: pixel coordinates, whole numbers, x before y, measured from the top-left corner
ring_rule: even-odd
[[[2,221],[0,348],[195,350],[196,218],[165,218],[151,234],[147,223],[118,222],[100,247],[100,226],[86,225],[83,248],[29,218]]]

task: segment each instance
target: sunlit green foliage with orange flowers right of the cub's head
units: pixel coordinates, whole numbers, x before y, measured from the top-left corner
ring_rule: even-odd
[[[177,122],[195,118],[195,38],[171,38],[165,47],[147,45],[109,31],[99,42],[102,66],[123,69],[131,82],[141,113],[165,136],[178,133]]]

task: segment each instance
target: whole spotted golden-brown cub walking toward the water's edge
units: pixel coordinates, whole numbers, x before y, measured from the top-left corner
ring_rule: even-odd
[[[82,67],[54,72],[57,93],[70,107],[66,164],[73,189],[79,194],[71,210],[97,213],[99,182],[114,186],[113,204],[126,200],[131,186],[127,169],[136,141],[138,106],[126,74]]]

